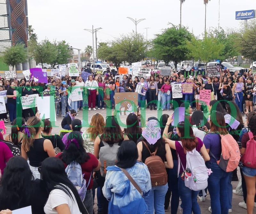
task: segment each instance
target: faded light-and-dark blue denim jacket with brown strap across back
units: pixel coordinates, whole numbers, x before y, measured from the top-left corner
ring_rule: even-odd
[[[126,170],[140,187],[143,196],[148,195],[151,190],[148,167],[141,162],[137,162]],[[148,206],[139,191],[117,166],[107,167],[106,181],[102,192],[109,201],[108,213],[142,214],[148,210]]]

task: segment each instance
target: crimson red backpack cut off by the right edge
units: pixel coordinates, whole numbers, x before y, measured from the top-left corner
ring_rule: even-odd
[[[248,132],[248,135],[250,140],[246,142],[246,150],[241,157],[241,161],[245,166],[256,169],[256,141],[253,139],[252,132]]]

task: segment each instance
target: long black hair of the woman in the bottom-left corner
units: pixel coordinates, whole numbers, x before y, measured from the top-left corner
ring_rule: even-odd
[[[1,180],[0,210],[16,210],[31,205],[33,179],[28,162],[23,157],[10,158]]]

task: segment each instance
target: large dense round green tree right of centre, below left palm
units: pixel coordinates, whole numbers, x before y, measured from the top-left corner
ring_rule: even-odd
[[[187,28],[172,25],[162,34],[157,34],[153,40],[155,57],[164,60],[167,65],[169,61],[173,61],[175,69],[181,60],[187,60],[190,56],[188,42],[192,39],[192,34]]]

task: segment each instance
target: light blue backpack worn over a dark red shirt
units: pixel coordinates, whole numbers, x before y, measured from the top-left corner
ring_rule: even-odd
[[[86,180],[84,179],[84,174],[82,174],[81,165],[76,161],[72,161],[70,164],[68,164],[68,166],[65,169],[65,172],[68,175],[68,179],[76,187],[81,200],[84,201],[87,188],[92,178],[92,173],[91,173],[89,182],[86,185]]]

